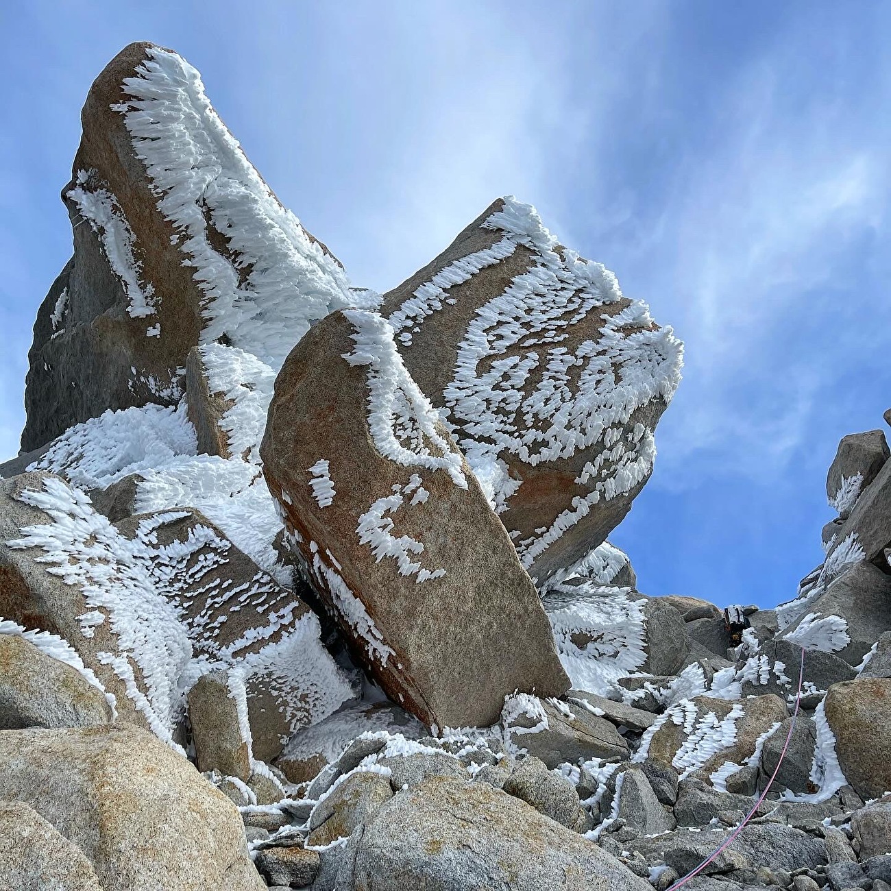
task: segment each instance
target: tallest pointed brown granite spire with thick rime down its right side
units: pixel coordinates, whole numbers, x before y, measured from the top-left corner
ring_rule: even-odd
[[[176,53],[125,47],[81,122],[62,189],[74,256],[37,313],[25,452],[107,408],[176,405],[199,343],[277,368],[310,323],[354,299]]]

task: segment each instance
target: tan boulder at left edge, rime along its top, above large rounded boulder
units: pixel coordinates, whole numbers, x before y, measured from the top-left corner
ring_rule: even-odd
[[[9,624],[0,622],[0,729],[111,721],[110,703],[94,683],[22,634],[9,634],[4,628]]]

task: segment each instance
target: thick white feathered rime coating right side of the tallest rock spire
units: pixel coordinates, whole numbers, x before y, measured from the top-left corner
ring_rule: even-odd
[[[117,108],[204,293],[202,343],[225,335],[277,369],[311,322],[356,305],[339,262],[275,198],[182,56],[151,47]],[[227,251],[210,244],[216,230]]]

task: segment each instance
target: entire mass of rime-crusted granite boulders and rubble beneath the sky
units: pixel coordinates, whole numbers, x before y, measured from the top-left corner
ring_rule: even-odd
[[[750,816],[687,887],[887,891],[881,431],[728,628],[606,540],[681,345],[534,208],[381,298],[176,53],[83,124],[0,465],[0,883],[666,891]]]

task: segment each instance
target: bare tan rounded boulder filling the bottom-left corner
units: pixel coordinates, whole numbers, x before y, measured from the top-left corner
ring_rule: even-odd
[[[103,891],[78,846],[20,801],[0,802],[0,883],[17,891]]]

